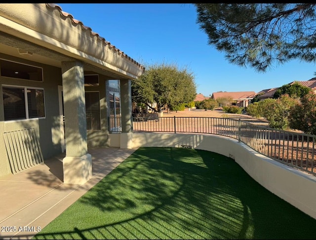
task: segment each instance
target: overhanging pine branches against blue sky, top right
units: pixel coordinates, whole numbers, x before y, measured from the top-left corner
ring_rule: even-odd
[[[299,59],[316,61],[316,3],[195,3],[208,44],[229,62],[257,71]]]

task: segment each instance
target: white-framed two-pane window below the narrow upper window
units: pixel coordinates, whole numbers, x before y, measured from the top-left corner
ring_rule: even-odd
[[[4,120],[44,118],[44,90],[2,87]]]

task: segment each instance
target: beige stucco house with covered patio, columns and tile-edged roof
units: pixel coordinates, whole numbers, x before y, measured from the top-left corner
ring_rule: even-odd
[[[0,176],[66,150],[64,183],[86,182],[87,147],[109,146],[110,114],[122,117],[119,146],[130,148],[140,63],[56,4],[0,3],[0,30]]]

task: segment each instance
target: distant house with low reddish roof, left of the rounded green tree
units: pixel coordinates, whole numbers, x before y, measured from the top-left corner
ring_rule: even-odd
[[[239,107],[247,107],[251,99],[255,96],[256,92],[254,91],[225,91],[225,92],[213,92],[213,99],[217,100],[218,98],[232,98],[236,101],[236,105]]]

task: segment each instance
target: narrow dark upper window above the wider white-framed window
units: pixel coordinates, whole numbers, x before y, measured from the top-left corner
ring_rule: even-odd
[[[0,74],[3,77],[43,81],[42,68],[0,59]]]

